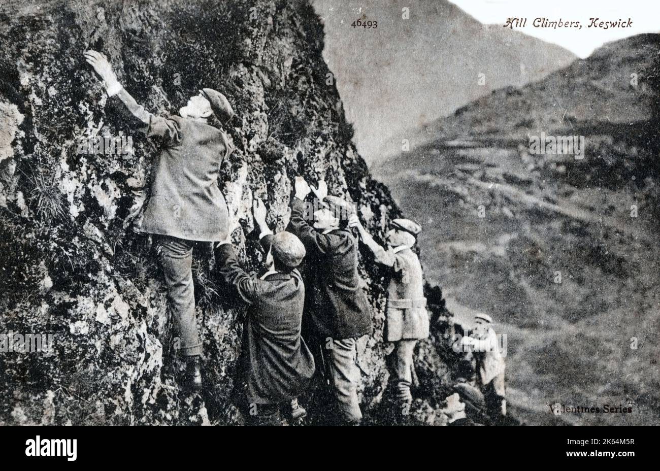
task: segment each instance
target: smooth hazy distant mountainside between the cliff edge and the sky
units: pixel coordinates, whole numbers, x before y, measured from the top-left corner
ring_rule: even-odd
[[[575,55],[502,25],[484,25],[447,0],[314,0],[323,57],[368,164],[401,149],[423,123],[503,86],[522,86]],[[401,18],[402,7],[409,19]],[[352,28],[354,20],[378,28]],[[479,83],[480,74],[484,82]]]

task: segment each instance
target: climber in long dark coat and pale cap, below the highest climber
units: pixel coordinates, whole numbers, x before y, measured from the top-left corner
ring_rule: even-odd
[[[249,305],[234,400],[249,424],[278,425],[281,404],[287,412],[293,408],[294,418],[304,416],[297,397],[314,375],[314,358],[300,336],[305,286],[296,267],[306,251],[290,232],[273,236],[261,200],[255,200],[253,213],[269,270],[261,277],[247,274],[229,238],[215,255],[224,279]]]

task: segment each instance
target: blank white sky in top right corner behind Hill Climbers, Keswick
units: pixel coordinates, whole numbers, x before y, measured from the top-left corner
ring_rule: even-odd
[[[520,32],[566,47],[587,57],[597,47],[640,33],[660,32],[658,0],[449,0],[484,24],[506,23],[507,18],[527,18]],[[535,28],[534,18],[579,21],[581,29]],[[587,28],[589,18],[632,20],[630,28]],[[514,28],[515,29],[515,28]]]

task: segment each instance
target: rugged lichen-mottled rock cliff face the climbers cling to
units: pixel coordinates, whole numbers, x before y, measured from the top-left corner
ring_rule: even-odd
[[[0,423],[240,422],[228,394],[242,308],[199,247],[205,388],[180,390],[180,365],[164,348],[172,333],[160,269],[149,237],[131,223],[159,143],[127,127],[82,51],[105,53],[153,112],[176,113],[202,87],[226,94],[236,151],[219,184],[243,219],[234,233],[242,261],[259,270],[251,201],[264,199],[282,230],[296,175],[324,178],[331,193],[356,202],[376,236],[399,216],[350,141],[314,11],[305,1],[72,0],[10,2],[0,19],[0,332],[52,335],[46,352],[0,354]],[[88,138],[121,135],[133,141],[126,154],[81,153]],[[391,350],[382,342],[383,278],[368,259],[361,270],[376,330],[360,340],[360,394],[366,420],[382,423]],[[430,340],[418,363],[415,414],[442,422],[447,370]]]

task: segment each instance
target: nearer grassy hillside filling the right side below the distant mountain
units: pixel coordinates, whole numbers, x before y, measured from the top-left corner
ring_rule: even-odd
[[[659,51],[653,34],[606,44],[435,121],[373,169],[424,225],[449,311],[490,313],[508,335],[512,410],[529,424],[554,421],[557,402],[634,404],[568,424],[660,423]],[[583,160],[530,154],[542,131],[583,135]]]

